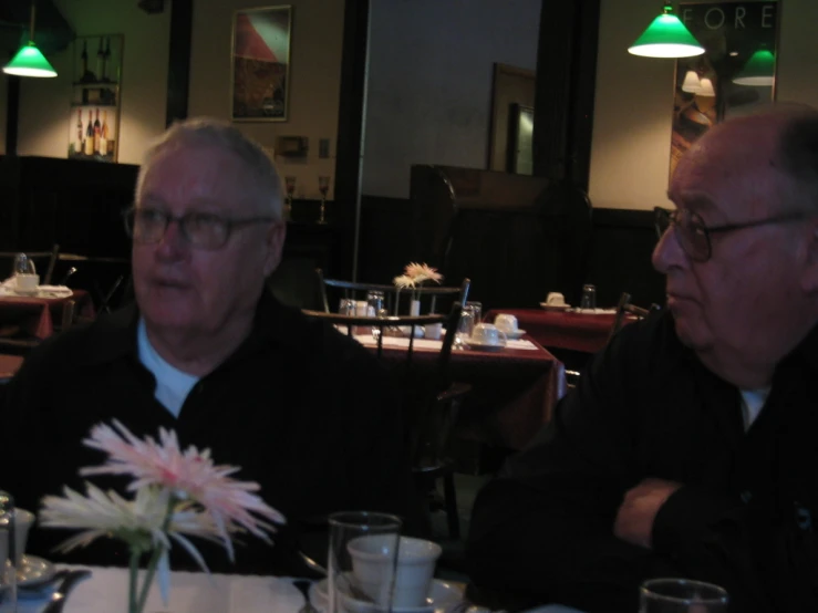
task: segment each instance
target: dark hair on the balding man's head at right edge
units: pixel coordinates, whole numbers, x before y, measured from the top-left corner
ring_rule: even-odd
[[[793,115],[781,131],[778,157],[794,183],[790,206],[818,212],[818,111],[803,108]]]

